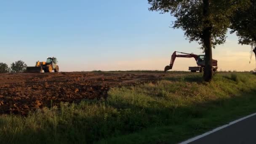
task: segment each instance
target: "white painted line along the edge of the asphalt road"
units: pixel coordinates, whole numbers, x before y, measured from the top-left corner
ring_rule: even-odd
[[[204,136],[207,136],[207,135],[209,135],[209,134],[211,134],[211,133],[215,133],[216,131],[219,131],[219,130],[221,130],[221,129],[223,129],[223,128],[226,128],[226,127],[228,127],[228,126],[230,126],[230,125],[233,125],[233,124],[235,124],[235,123],[238,123],[238,122],[240,122],[240,121],[242,121],[242,120],[245,120],[245,119],[247,119],[247,118],[249,118],[249,117],[253,117],[253,116],[255,116],[255,115],[256,115],[256,113],[251,114],[251,115],[248,115],[248,116],[243,117],[243,118],[240,118],[240,119],[238,119],[238,120],[232,121],[232,122],[230,122],[230,123],[227,124],[227,125],[222,125],[222,126],[220,126],[219,128],[215,128],[215,129],[213,129],[212,131],[208,131],[208,132],[206,132],[206,133],[204,133],[204,134],[202,134],[202,135],[200,135],[200,136],[196,136],[196,137],[194,137],[194,138],[192,138],[192,139],[188,139],[187,141],[183,141],[183,142],[181,142],[181,143],[179,143],[179,144],[188,144],[188,143],[190,143],[190,142],[192,142],[192,141],[195,141],[195,140],[197,140],[197,139],[201,139],[201,138],[203,138]]]

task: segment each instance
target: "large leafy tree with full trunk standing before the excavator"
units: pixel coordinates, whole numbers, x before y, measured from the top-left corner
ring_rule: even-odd
[[[189,42],[197,41],[205,52],[204,80],[212,79],[212,48],[223,44],[229,17],[247,0],[148,0],[150,11],[171,13],[173,28],[181,28]]]

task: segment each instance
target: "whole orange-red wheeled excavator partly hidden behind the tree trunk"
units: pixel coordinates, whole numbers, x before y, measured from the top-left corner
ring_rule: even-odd
[[[197,71],[203,72],[204,71],[205,55],[196,55],[196,54],[193,54],[193,53],[182,53],[182,54],[176,54],[176,53],[182,53],[182,52],[174,51],[174,53],[171,56],[170,65],[165,67],[165,72],[168,71],[169,69],[173,68],[173,64],[174,64],[174,61],[175,61],[176,57],[179,57],[179,58],[194,58],[195,61],[197,61],[197,66],[198,67],[189,67],[189,70],[191,72],[197,72]],[[218,66],[218,61],[213,59],[212,63],[213,63],[213,68],[212,68],[213,72],[216,72],[217,69],[218,69],[218,67],[217,67]]]

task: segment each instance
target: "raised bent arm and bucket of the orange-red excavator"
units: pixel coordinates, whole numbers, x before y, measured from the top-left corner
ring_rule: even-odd
[[[193,54],[193,53],[182,53],[182,54],[178,54],[178,55],[176,53],[182,53],[182,52],[178,52],[178,51],[173,52],[173,54],[171,56],[170,65],[165,67],[165,72],[168,71],[169,69],[173,68],[173,64],[174,64],[174,61],[175,61],[176,57],[179,57],[179,58],[195,58],[196,61],[198,59],[198,55]]]

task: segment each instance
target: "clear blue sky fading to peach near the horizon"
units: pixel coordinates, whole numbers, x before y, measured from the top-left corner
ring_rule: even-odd
[[[2,0],[0,62],[34,66],[55,56],[60,71],[163,70],[173,51],[201,53],[182,30],[170,28],[170,14],[148,7],[147,0]],[[250,46],[228,36],[213,50],[219,69],[254,69]],[[194,59],[177,58],[173,70],[189,66]]]

